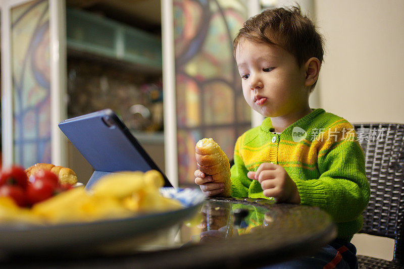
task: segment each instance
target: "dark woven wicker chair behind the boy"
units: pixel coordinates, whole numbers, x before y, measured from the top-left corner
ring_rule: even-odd
[[[365,153],[370,201],[360,233],[392,238],[393,260],[358,255],[359,268],[404,268],[404,125],[354,124]]]

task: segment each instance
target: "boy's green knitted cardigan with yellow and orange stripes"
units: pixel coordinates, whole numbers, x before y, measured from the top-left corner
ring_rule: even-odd
[[[266,118],[237,139],[231,196],[268,198],[247,172],[257,171],[262,163],[280,165],[296,183],[301,204],[328,212],[337,225],[337,238],[350,241],[362,228],[370,194],[364,153],[352,125],[316,109],[282,133],[273,132]]]

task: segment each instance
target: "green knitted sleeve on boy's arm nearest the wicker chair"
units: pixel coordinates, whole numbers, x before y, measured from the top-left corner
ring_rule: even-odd
[[[349,222],[358,218],[369,202],[365,158],[355,133],[346,136],[345,128],[335,128],[332,133],[316,141],[320,178],[296,179],[295,183],[302,204],[319,206],[336,222]]]

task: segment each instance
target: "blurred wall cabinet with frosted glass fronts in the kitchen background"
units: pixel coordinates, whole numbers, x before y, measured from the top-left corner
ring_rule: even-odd
[[[91,12],[66,9],[69,53],[130,63],[145,72],[161,72],[161,38]]]

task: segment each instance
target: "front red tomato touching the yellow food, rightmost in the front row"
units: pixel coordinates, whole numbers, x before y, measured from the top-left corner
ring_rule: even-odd
[[[52,173],[52,172],[51,172]],[[35,179],[32,184],[28,184],[26,195],[30,204],[41,202],[51,198],[56,190],[55,184],[46,178]]]

